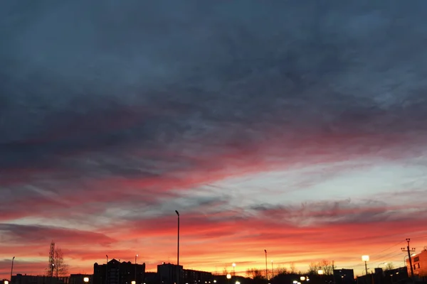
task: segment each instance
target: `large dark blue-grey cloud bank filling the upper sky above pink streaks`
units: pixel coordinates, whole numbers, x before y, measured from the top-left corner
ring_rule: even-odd
[[[1,6],[2,169],[164,175],[278,133],[426,133],[422,1]]]

